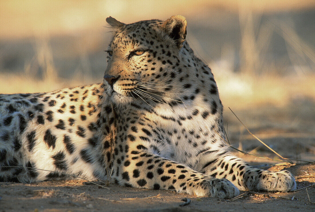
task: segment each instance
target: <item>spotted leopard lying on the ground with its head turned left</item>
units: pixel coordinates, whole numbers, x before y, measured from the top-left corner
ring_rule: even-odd
[[[0,95],[0,181],[110,176],[126,187],[213,198],[295,190],[289,171],[231,153],[218,87],[186,41],[183,16],[106,22],[102,83]]]

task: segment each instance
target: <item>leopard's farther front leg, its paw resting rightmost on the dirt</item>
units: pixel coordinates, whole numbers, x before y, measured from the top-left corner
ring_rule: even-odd
[[[289,192],[296,188],[289,171],[271,172],[247,165],[226,150],[200,155],[198,171],[215,178],[225,178],[240,190]]]

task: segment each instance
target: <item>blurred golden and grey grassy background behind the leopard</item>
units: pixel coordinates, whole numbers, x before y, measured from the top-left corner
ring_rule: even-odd
[[[215,75],[231,144],[274,157],[228,107],[283,156],[315,160],[314,0],[0,1],[0,93],[100,83],[106,17],[132,23],[176,14]]]

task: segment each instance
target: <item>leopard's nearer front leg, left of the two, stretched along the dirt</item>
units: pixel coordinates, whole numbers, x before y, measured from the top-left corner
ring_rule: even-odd
[[[196,196],[233,198],[238,189],[226,179],[215,179],[146,150],[114,154],[113,177],[120,185],[173,190]]]

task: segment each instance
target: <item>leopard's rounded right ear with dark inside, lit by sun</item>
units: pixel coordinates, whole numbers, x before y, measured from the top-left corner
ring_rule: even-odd
[[[162,30],[175,40],[180,49],[186,39],[187,21],[181,15],[173,15],[162,24]]]

